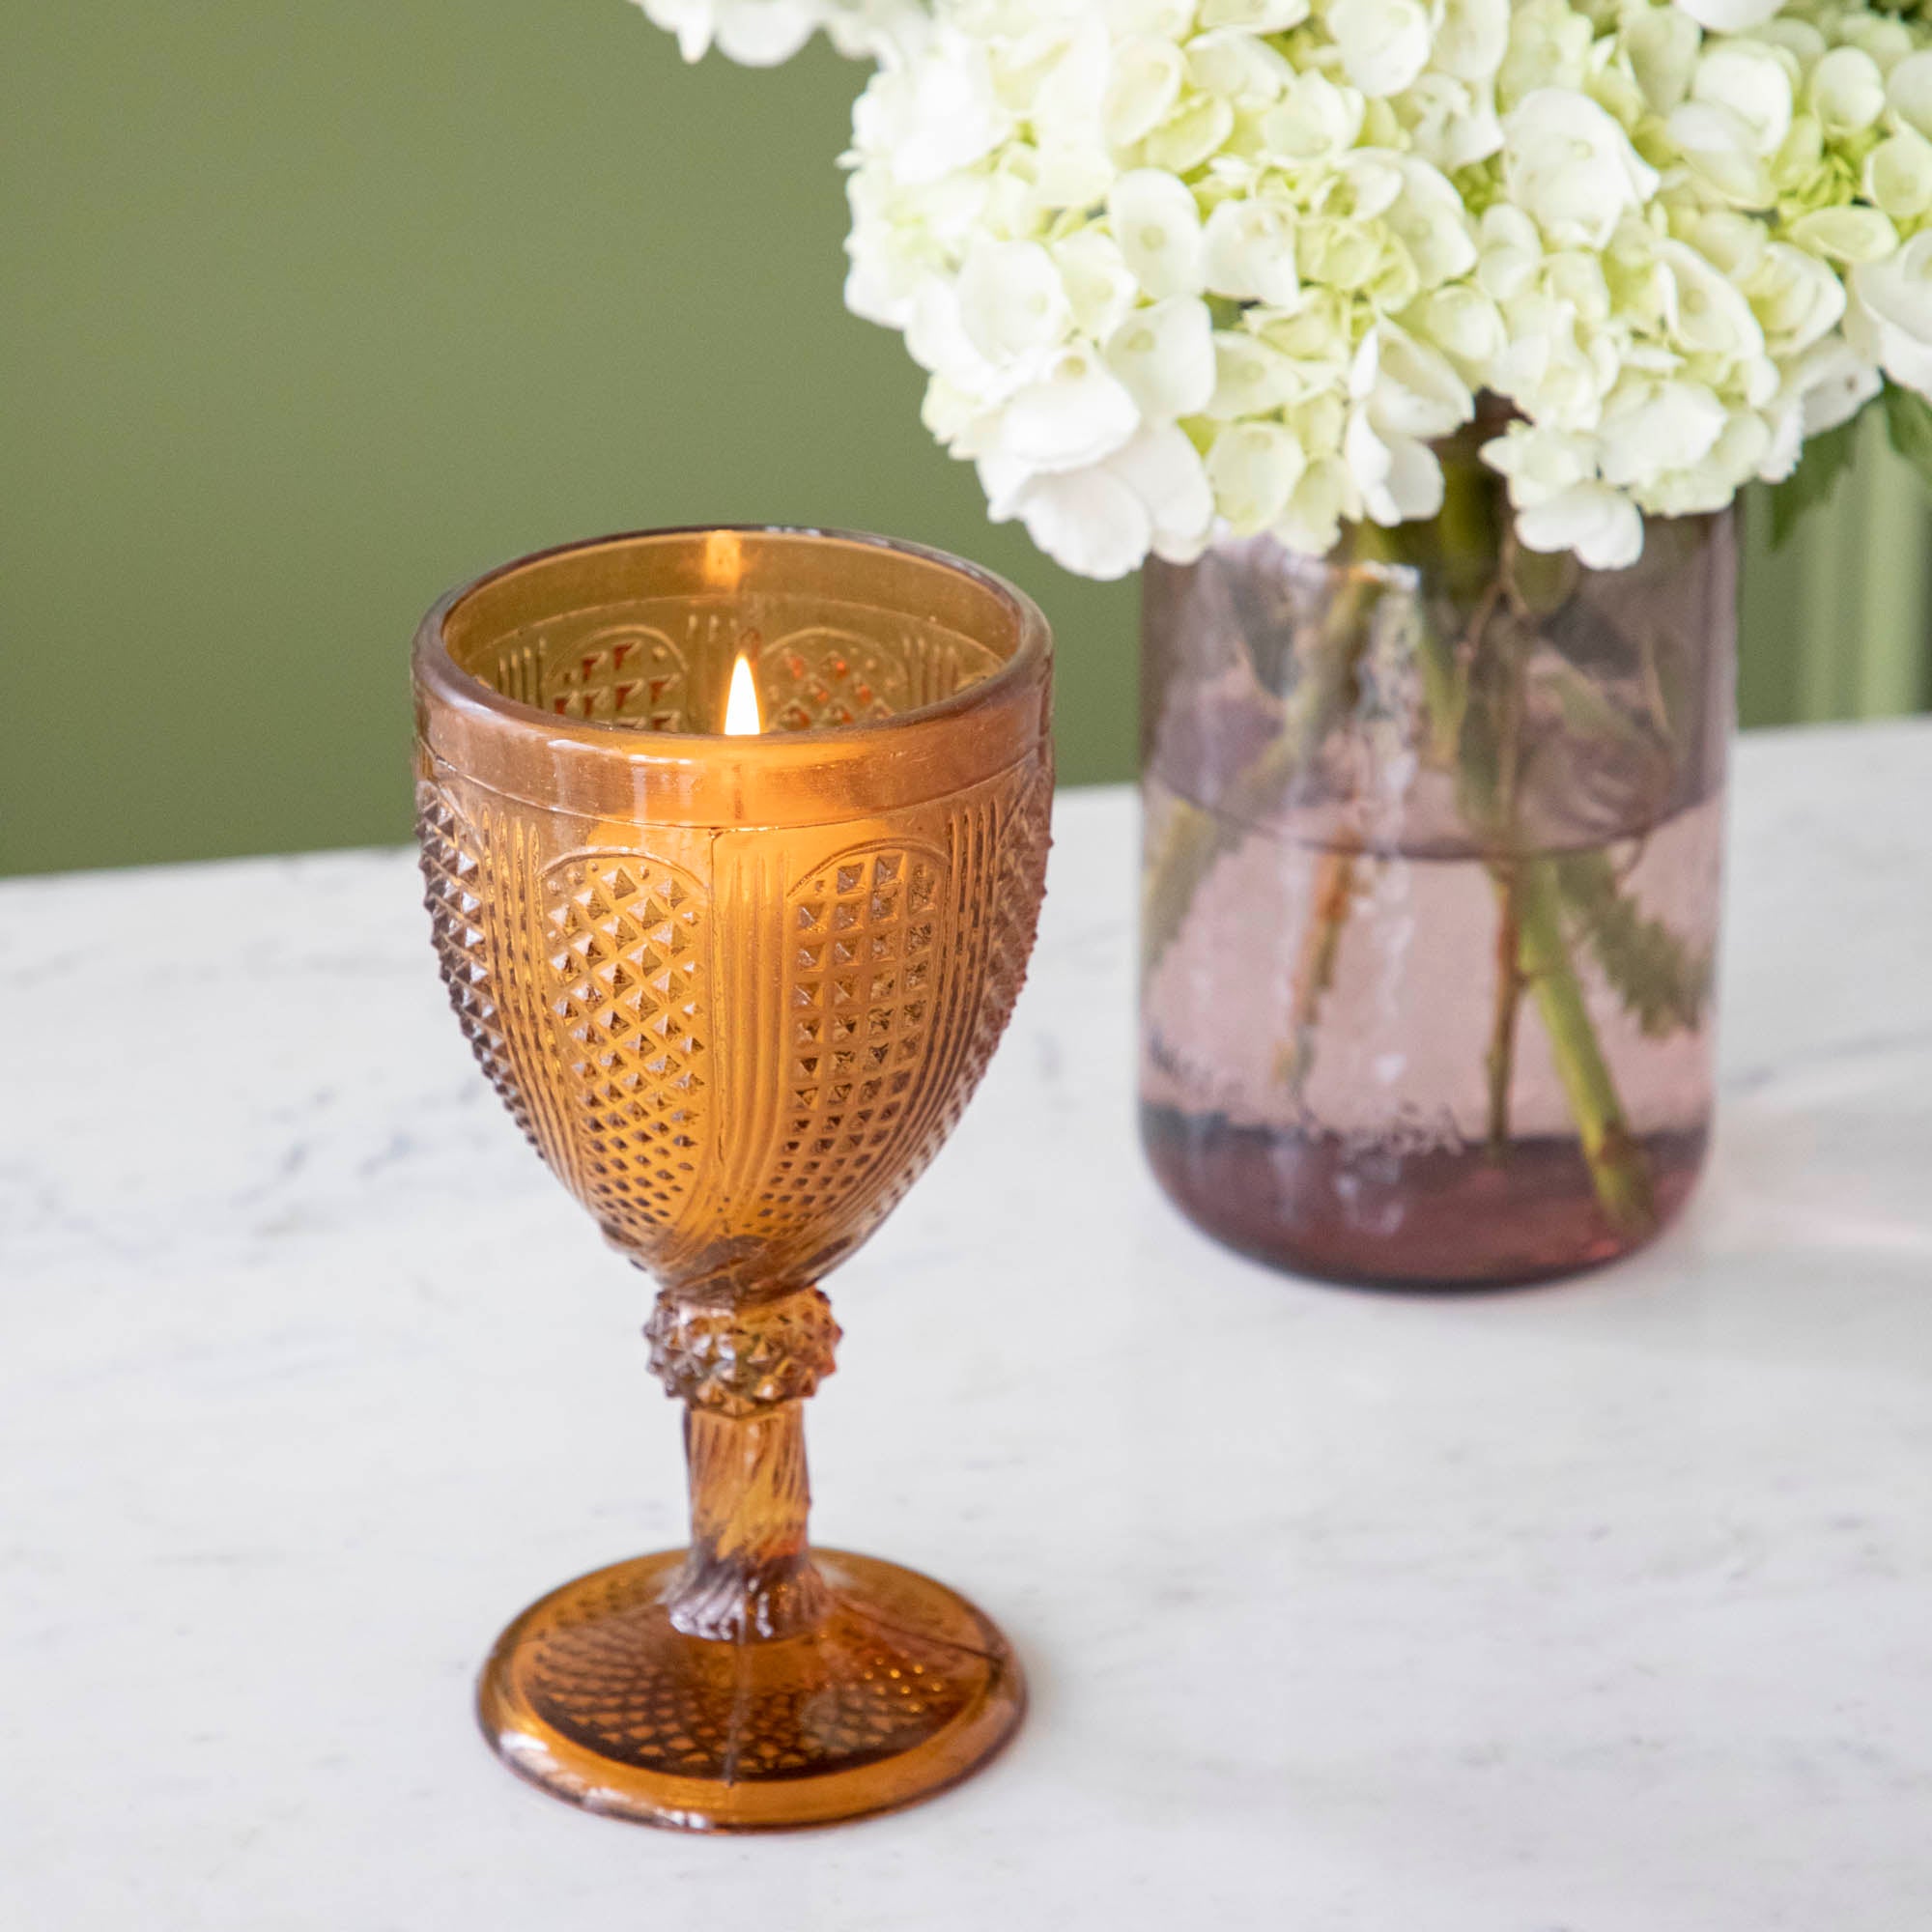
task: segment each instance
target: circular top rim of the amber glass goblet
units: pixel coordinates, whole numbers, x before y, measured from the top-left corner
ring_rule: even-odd
[[[547,564],[554,558],[585,556],[593,551],[614,549],[620,545],[709,535],[782,537],[802,539],[811,545],[858,545],[867,551],[906,558],[908,562],[933,564],[939,570],[976,583],[1001,603],[1014,620],[1018,643],[1014,645],[1012,655],[1003,659],[995,670],[989,670],[983,678],[976,678],[964,690],[952,692],[947,697],[935,697],[931,703],[908,705],[904,711],[895,711],[881,719],[856,719],[850,724],[813,724],[804,730],[761,730],[742,736],[732,736],[723,730],[649,730],[624,719],[560,717],[554,711],[545,711],[541,705],[531,705],[520,697],[510,697],[504,692],[498,692],[473,670],[466,670],[450,651],[446,626],[458,607],[469,597],[487,591],[493,583],[500,583],[518,572]],[[1043,670],[1051,657],[1051,649],[1053,630],[1039,605],[1036,605],[1034,599],[1028,597],[1016,583],[999,576],[999,572],[987,570],[983,564],[976,564],[970,558],[956,556],[952,551],[941,551],[925,543],[912,543],[902,537],[883,537],[875,531],[831,529],[815,524],[667,524],[661,527],[620,529],[605,537],[580,537],[570,543],[547,545],[541,551],[529,551],[524,556],[514,556],[504,564],[485,570],[477,578],[454,585],[429,607],[423,622],[417,626],[412,668],[417,682],[435,692],[435,696],[444,703],[460,705],[471,713],[485,713],[497,723],[520,730],[541,726],[553,738],[572,738],[587,748],[599,748],[603,752],[647,757],[653,761],[678,761],[699,755],[699,748],[715,748],[721,742],[726,742],[730,744],[734,757],[779,759],[798,757],[800,752],[810,750],[813,744],[844,746],[854,740],[885,738],[895,732],[904,732],[912,724],[939,723],[985,709],[987,705],[1007,697],[1012,686],[1024,684],[1028,678]]]

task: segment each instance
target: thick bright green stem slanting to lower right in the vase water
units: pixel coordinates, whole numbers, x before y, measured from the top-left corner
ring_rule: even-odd
[[[1650,1161],[1631,1134],[1582,997],[1582,981],[1563,933],[1563,908],[1551,860],[1517,867],[1519,968],[1549,1036],[1557,1078],[1569,1099],[1596,1198],[1611,1227],[1642,1235],[1656,1227],[1658,1204]]]

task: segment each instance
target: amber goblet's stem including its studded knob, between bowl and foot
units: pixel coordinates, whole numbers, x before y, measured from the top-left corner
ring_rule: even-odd
[[[668,1613],[686,1636],[796,1636],[827,1611],[806,1542],[804,1401],[833,1370],[838,1323],[817,1289],[707,1298],[667,1289],[651,1368],[686,1403],[692,1548]]]

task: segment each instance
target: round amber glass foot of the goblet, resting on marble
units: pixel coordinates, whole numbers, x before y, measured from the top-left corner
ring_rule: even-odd
[[[999,1631],[896,1563],[813,1549],[810,1631],[686,1636],[684,1551],[593,1571],[531,1604],[477,1685],[483,1735],[585,1810],[680,1832],[779,1832],[895,1810],[985,1764],[1026,1708]]]

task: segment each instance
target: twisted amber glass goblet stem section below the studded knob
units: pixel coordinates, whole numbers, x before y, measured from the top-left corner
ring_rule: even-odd
[[[684,1414],[692,1551],[667,1609],[686,1636],[796,1636],[829,1596],[806,1548],[804,1403],[753,1416]]]

